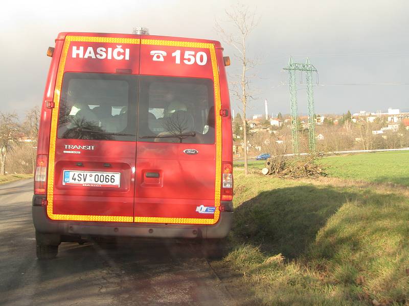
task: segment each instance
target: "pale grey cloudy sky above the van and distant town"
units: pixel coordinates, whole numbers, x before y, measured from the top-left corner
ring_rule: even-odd
[[[236,1],[9,1],[2,5],[0,111],[23,115],[41,104],[49,68],[48,46],[59,32],[130,33],[143,25],[151,34],[220,40],[215,18],[226,31],[225,10]],[[409,2],[406,0],[242,1],[260,17],[248,40],[258,58],[252,86],[257,99],[248,114],[289,113],[288,75],[292,56],[319,70],[316,113],[409,111]],[[233,48],[225,55],[233,60]],[[228,67],[235,74],[237,63]],[[305,85],[298,85],[299,112],[306,112]],[[238,101],[232,98],[238,111]]]

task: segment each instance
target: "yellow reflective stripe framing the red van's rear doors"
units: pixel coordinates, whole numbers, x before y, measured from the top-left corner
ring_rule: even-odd
[[[165,45],[193,48],[208,48],[210,51],[213,79],[214,79],[214,100],[216,112],[216,177],[215,177],[215,213],[213,219],[203,218],[162,218],[162,217],[129,217],[129,216],[100,216],[100,215],[63,215],[53,213],[53,195],[54,195],[54,165],[55,165],[55,143],[57,135],[57,122],[59,113],[59,102],[62,86],[62,78],[64,73],[65,61],[71,41],[83,42],[106,42],[106,43],[129,43],[129,44],[149,44],[149,45]],[[54,90],[54,109],[52,110],[51,133],[50,133],[50,150],[49,150],[49,166],[48,166],[48,181],[47,181],[47,215],[53,220],[72,220],[72,221],[111,221],[111,222],[147,222],[147,223],[174,223],[174,224],[214,224],[219,220],[220,211],[220,187],[221,187],[221,149],[222,149],[222,132],[221,132],[221,117],[218,116],[221,109],[220,98],[220,81],[219,71],[216,59],[216,50],[212,43],[202,42],[184,42],[171,40],[153,40],[153,39],[137,39],[137,38],[115,38],[115,37],[89,37],[89,36],[66,36],[62,47],[60,62],[58,65],[57,79]]]

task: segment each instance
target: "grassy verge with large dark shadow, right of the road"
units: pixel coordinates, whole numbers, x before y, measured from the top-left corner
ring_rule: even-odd
[[[269,305],[409,304],[409,192],[235,171],[224,259]]]

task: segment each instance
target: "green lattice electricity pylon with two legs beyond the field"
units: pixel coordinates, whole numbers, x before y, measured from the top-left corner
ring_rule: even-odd
[[[318,72],[307,58],[305,64],[294,63],[292,57],[288,61],[288,66],[284,68],[288,70],[288,79],[290,85],[290,108],[291,108],[291,137],[292,137],[292,152],[295,155],[300,154],[298,141],[298,103],[297,103],[297,83],[296,71],[305,71],[307,80],[307,101],[308,101],[308,145],[310,152],[315,151],[315,121],[314,121],[314,93],[312,90],[312,71]]]

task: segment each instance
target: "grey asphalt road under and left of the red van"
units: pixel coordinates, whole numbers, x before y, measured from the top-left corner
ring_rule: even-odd
[[[0,305],[237,305],[196,245],[62,243],[38,261],[32,180],[0,185]]]

